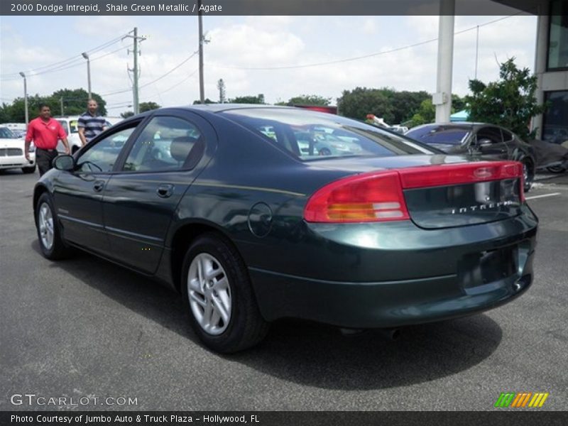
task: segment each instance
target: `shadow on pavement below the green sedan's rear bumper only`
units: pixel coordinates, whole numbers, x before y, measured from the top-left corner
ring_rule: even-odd
[[[344,336],[335,327],[276,322],[261,345],[234,355],[234,361],[302,385],[370,390],[465,371],[491,356],[502,337],[501,327],[483,314],[400,332],[389,340],[376,330]]]

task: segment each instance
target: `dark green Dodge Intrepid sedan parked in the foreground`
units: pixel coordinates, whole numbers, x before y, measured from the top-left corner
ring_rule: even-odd
[[[326,136],[345,148],[317,151]],[[496,307],[530,286],[537,234],[520,163],[229,104],[116,124],[56,158],[33,208],[45,257],[78,247],[158,278],[221,352],[281,317],[386,328]]]

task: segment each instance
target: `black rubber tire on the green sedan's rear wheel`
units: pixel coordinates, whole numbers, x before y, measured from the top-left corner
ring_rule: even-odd
[[[215,293],[215,285],[223,281],[218,279],[219,276],[221,278],[224,276],[228,282],[226,286],[229,290],[226,290],[226,293],[229,294],[230,300],[228,304],[230,305],[229,320],[225,324],[222,317],[217,315],[218,319],[214,321],[216,324],[219,324],[217,334],[204,329],[204,326],[200,324],[200,318],[196,317],[194,309],[199,313],[203,309],[202,317],[205,317],[206,307],[203,307],[201,304],[211,305],[209,307],[209,312],[211,312],[209,318],[212,319],[214,313],[220,312],[213,307],[216,304],[212,300],[213,298],[221,300],[221,295],[217,295],[217,293],[209,295],[209,302],[207,302],[207,296],[205,295],[207,290],[197,291],[196,294],[195,288],[193,288],[191,290],[192,302],[190,302],[190,288],[188,288],[190,266],[192,266],[192,262],[195,260],[194,268],[192,269],[193,273],[195,265],[203,258],[213,259],[211,260],[211,265],[214,268],[212,271],[213,273],[219,273],[219,275],[212,278],[208,284],[204,284],[202,289],[208,288],[209,292]],[[203,273],[200,276],[203,276]],[[213,283],[213,280],[215,280],[215,283]],[[266,336],[270,324],[263,319],[261,312],[258,310],[256,297],[254,296],[244,261],[242,261],[239,253],[224,237],[214,233],[203,234],[197,237],[187,250],[187,253],[185,253],[181,283],[183,304],[190,324],[197,336],[200,337],[201,341],[209,349],[223,354],[231,354],[254,346]],[[195,301],[195,297],[199,298],[200,303]]]

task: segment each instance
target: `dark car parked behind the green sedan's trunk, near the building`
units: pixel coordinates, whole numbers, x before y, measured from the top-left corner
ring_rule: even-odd
[[[449,154],[468,154],[485,160],[515,160],[523,163],[525,191],[535,179],[535,155],[528,143],[500,126],[454,122],[416,126],[406,136]]]

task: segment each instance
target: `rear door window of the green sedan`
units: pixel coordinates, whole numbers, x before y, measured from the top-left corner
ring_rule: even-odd
[[[177,117],[157,116],[140,133],[123,170],[153,172],[195,167],[204,152],[197,126]]]

